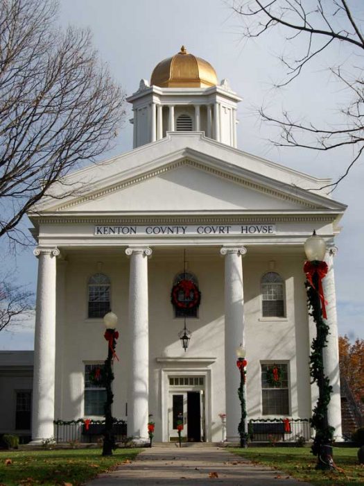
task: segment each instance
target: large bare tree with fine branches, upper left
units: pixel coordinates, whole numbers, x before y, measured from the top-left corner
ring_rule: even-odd
[[[19,240],[26,212],[110,148],[125,113],[89,31],[61,31],[57,12],[53,0],[0,0],[0,237]]]

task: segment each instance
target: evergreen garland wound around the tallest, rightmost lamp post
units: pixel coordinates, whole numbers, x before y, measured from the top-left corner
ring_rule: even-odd
[[[313,283],[318,288],[318,282]],[[311,383],[317,383],[320,389],[320,396],[318,402],[313,408],[311,426],[315,429],[315,439],[311,452],[313,455],[318,455],[320,446],[323,444],[330,444],[333,440],[333,427],[327,424],[325,417],[327,417],[327,405],[329,405],[332,387],[329,378],[324,375],[324,363],[322,359],[322,349],[326,346],[327,335],[329,334],[329,326],[322,319],[322,309],[320,305],[320,296],[318,291],[306,281],[307,301],[309,307],[309,315],[312,316],[316,324],[316,337],[311,344],[310,355],[310,375],[312,377]],[[326,423],[325,423],[326,422]]]

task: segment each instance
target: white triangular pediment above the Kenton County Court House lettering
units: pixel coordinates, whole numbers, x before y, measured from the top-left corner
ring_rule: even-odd
[[[295,185],[311,183],[309,176],[216,142],[211,148],[204,137],[187,140],[167,138],[71,174],[76,190],[42,201],[37,212],[345,209]]]

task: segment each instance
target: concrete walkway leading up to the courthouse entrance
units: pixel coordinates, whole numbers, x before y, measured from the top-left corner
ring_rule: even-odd
[[[153,447],[130,464],[122,464],[87,486],[309,486],[280,473],[252,464],[218,447]]]

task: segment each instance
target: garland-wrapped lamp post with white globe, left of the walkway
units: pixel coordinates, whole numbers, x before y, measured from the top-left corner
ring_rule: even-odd
[[[115,353],[116,340],[119,337],[119,333],[116,328],[118,318],[114,312],[107,312],[103,318],[105,324],[105,340],[107,340],[107,358],[104,363],[104,383],[106,388],[106,401],[104,405],[105,411],[105,429],[103,432],[103,455],[112,455],[112,449],[115,448],[115,437],[112,433],[112,426],[114,419],[112,417],[112,403],[114,401],[114,394],[112,393],[112,380],[114,380],[114,374],[112,372],[112,360],[117,358]],[[119,358],[117,358],[119,359]]]

